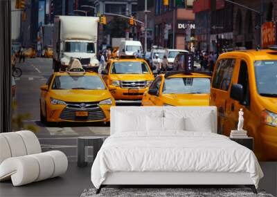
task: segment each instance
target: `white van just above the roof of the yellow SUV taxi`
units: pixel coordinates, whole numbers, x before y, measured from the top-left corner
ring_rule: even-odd
[[[142,46],[140,41],[124,40],[119,46],[119,55],[134,55],[137,53],[141,55]]]

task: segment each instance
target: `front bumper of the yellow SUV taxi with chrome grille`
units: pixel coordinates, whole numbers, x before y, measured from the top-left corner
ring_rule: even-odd
[[[131,92],[130,89],[137,91]],[[148,91],[148,88],[120,88],[118,86],[109,86],[111,95],[113,95],[115,100],[142,100],[143,93]]]

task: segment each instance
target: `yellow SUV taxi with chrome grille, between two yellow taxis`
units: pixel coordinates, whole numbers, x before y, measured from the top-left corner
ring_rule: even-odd
[[[141,102],[154,75],[144,59],[131,55],[110,59],[102,71],[102,78],[116,102]]]

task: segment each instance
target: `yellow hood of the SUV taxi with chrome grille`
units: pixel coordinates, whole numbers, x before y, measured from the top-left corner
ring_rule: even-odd
[[[150,73],[148,74],[112,74],[111,80],[120,81],[148,81],[154,80],[154,76]]]

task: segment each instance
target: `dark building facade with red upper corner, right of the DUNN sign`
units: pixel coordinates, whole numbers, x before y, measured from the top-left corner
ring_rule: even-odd
[[[224,0],[195,0],[193,10],[197,50],[214,52],[219,50],[222,53],[240,48],[256,48],[261,44],[262,27],[266,22],[274,24],[272,26],[274,26],[276,43],[276,0],[235,0],[234,2],[253,10]]]

